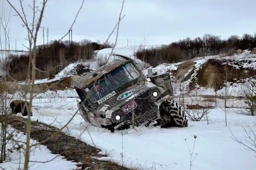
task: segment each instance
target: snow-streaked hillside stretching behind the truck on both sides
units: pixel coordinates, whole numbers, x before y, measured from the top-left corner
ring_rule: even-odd
[[[106,62],[120,58],[119,55],[125,55],[134,59],[145,76],[147,76],[148,68],[152,68],[152,71],[155,74],[162,74],[170,71],[175,94],[180,93],[180,88],[177,87],[179,84],[177,82],[182,82],[184,92],[201,95],[212,95],[216,90],[220,91],[226,80],[229,82],[228,88],[232,88],[234,91],[239,91],[240,83],[243,83],[241,80],[252,78],[256,75],[256,55],[250,54],[250,51],[248,50],[242,51],[241,54],[230,56],[221,54],[197,57],[180,63],[163,63],[156,66],[150,66],[134,56],[134,53],[138,49],[140,49],[140,46],[133,48],[116,47],[113,49],[113,53],[109,59],[108,56],[110,55],[112,48],[94,51],[97,55],[95,55],[93,59],[69,64],[52,78],[37,79],[35,84],[44,86],[44,84],[51,84],[62,79],[60,90],[65,89],[65,86],[69,88],[73,79],[76,79],[76,76],[85,75]],[[62,83],[63,81],[64,84]],[[25,85],[26,83],[28,82],[17,82],[17,84],[19,84],[18,86]],[[19,87],[19,89],[20,88],[21,87]],[[55,87],[54,89],[58,89],[58,87]],[[239,96],[240,94],[234,93],[233,95]]]

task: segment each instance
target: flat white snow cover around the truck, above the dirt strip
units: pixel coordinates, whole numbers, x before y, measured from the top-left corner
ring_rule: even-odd
[[[34,100],[34,116],[32,118],[60,128],[76,112],[76,98],[68,98],[67,94],[60,95],[65,97],[55,98],[52,98],[51,95],[44,94],[41,99],[38,97]],[[74,96],[75,94],[72,95],[72,97]],[[189,102],[191,98],[187,97],[185,100]],[[200,102],[202,99],[197,97],[193,100]],[[218,100],[218,103],[221,101]],[[220,106],[221,104],[219,104]],[[194,154],[198,155],[192,163],[192,169],[254,170],[256,167],[255,153],[245,150],[243,145],[230,138],[231,130],[239,140],[245,141],[243,136],[245,132],[242,126],[246,130],[250,130],[249,128],[256,130],[256,125],[253,123],[256,121],[255,116],[236,114],[239,111],[236,108],[228,110],[228,127],[225,127],[223,110],[217,108],[210,109],[209,125],[207,125],[207,121],[189,122],[188,128],[142,127],[137,131],[129,129],[111,133],[106,129],[88,126],[79,115],[76,115],[65,131],[69,135],[78,137],[90,145],[95,144],[103,152],[109,153],[107,158],[101,159],[112,160],[120,165],[123,163],[128,167],[150,168],[154,166],[157,170],[189,169],[190,155],[185,139],[191,149],[194,144],[194,135],[197,135]],[[84,131],[87,126],[88,131]]]

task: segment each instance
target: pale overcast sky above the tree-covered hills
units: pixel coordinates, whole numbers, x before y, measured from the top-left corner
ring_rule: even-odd
[[[37,0],[37,5],[42,0]],[[0,0],[6,19],[10,13],[10,5],[6,0]],[[10,2],[20,11],[19,0]],[[24,11],[31,21],[33,12],[28,7],[32,0],[24,0]],[[47,26],[49,41],[59,39],[71,26],[82,0],[49,0],[44,12],[45,27],[44,43],[47,43]],[[3,5],[3,8],[2,8]],[[227,38],[231,34],[241,36],[243,33],[256,32],[255,18],[256,1],[253,0],[125,0],[120,23],[118,46],[169,44],[173,41],[190,37],[202,37],[204,33],[220,35]],[[84,6],[73,26],[73,40],[90,39],[105,41],[118,21],[122,0],[85,0]],[[39,12],[38,12],[39,13]],[[22,48],[27,43],[26,29],[21,26],[21,20],[12,10],[10,20],[10,44],[15,49]],[[145,32],[145,36],[144,36]],[[115,41],[116,34],[110,42]],[[68,36],[65,37],[68,39]],[[4,44],[3,28],[1,40]],[[37,44],[43,43],[43,29],[39,31]],[[2,45],[3,45],[2,44]]]

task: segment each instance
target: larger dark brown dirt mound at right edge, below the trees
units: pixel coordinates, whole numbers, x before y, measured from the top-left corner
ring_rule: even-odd
[[[235,60],[216,60],[209,59],[206,63],[201,65],[201,68],[196,74],[196,78],[192,79],[189,87],[195,88],[195,84],[198,84],[206,88],[220,89],[223,87],[223,83],[238,82],[245,78],[251,78],[256,75],[256,70],[251,68],[244,68],[244,63],[250,64],[252,61],[235,61]]]

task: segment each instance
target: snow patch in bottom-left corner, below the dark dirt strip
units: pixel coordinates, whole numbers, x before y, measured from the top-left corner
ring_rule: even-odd
[[[15,132],[15,129],[9,128],[8,132],[17,134],[15,140],[19,142],[26,141],[26,135],[23,133]],[[30,144],[35,144],[35,140],[31,140]],[[21,144],[21,143],[20,143]],[[6,148],[13,148],[14,144],[9,142]],[[23,169],[24,166],[24,152],[25,150],[21,149],[20,151],[12,150],[14,152],[8,155],[7,160],[4,163],[0,164],[1,169]],[[47,162],[53,159],[51,162]],[[72,170],[76,169],[76,163],[63,159],[62,156],[52,154],[44,145],[39,145],[34,148],[31,148],[30,154],[29,170],[45,170],[45,169],[54,169],[54,170]]]

